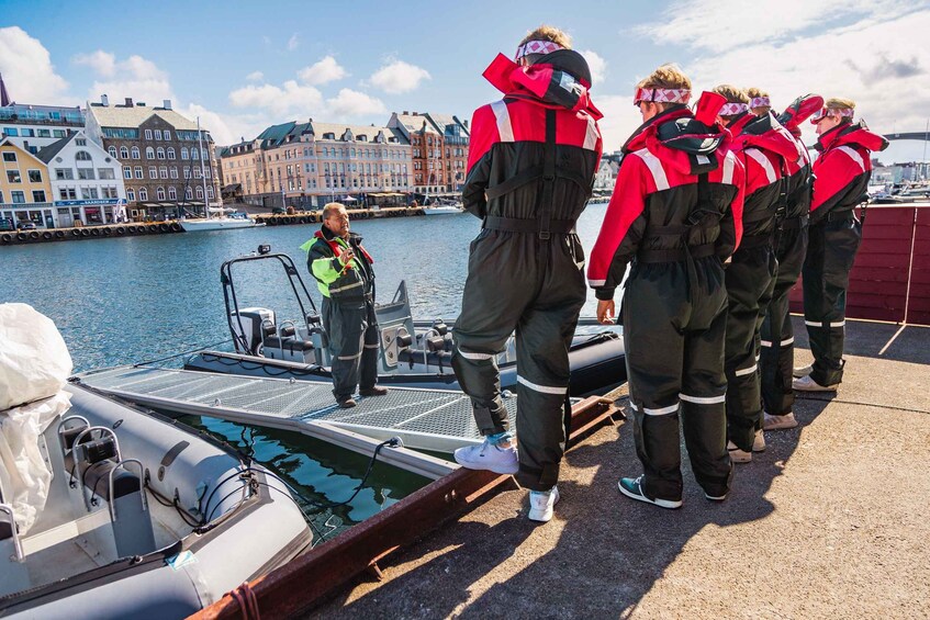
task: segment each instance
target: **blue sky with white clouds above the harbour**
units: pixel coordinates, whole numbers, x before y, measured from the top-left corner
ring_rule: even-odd
[[[0,74],[20,103],[170,99],[223,145],[307,119],[468,119],[500,98],[481,77],[488,64],[542,23],[587,59],[607,151],[640,124],[636,82],[669,61],[695,94],[757,86],[778,110],[809,92],[844,97],[883,134],[925,131],[930,117],[930,0],[0,0]],[[805,139],[816,139],[809,125]],[[925,153],[894,142],[879,157]]]

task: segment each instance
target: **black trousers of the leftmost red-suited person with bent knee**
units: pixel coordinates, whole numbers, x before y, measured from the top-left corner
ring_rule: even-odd
[[[516,331],[517,481],[548,491],[565,449],[569,347],[584,305],[584,250],[575,234],[483,229],[469,252],[452,368],[482,435],[508,429],[497,354]]]

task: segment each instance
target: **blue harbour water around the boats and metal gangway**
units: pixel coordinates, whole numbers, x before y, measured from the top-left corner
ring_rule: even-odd
[[[590,206],[579,234],[590,252],[606,206]],[[314,303],[315,281],[300,250],[318,225],[258,227],[213,233],[10,246],[0,249],[0,302],[27,303],[51,317],[68,345],[75,372],[170,358],[229,339],[220,266],[269,244],[289,255]],[[352,222],[374,257],[377,294],[390,301],[406,280],[414,316],[455,320],[468,269],[468,245],[480,222],[467,214]],[[272,264],[273,263],[273,264]],[[234,267],[239,306],[273,308],[278,320],[299,318],[290,285],[277,261]],[[593,315],[589,293],[583,314]],[[222,345],[217,348],[229,348]],[[164,365],[180,367],[183,357]],[[369,459],[325,442],[217,419],[183,421],[269,466],[299,498],[316,541],[338,534],[406,497],[428,481],[376,464],[346,506],[321,509],[352,495]]]

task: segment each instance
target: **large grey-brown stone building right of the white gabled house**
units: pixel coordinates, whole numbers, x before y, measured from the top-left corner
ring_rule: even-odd
[[[130,218],[178,217],[221,203],[213,138],[203,127],[198,136],[197,123],[170,100],[160,108],[128,98],[111,105],[103,95],[88,103],[87,135],[122,164]]]

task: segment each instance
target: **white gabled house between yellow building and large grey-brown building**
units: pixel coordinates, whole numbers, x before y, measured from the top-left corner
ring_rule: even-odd
[[[115,222],[119,202],[126,199],[123,166],[83,129],[46,146],[37,157],[52,182],[56,227]]]

